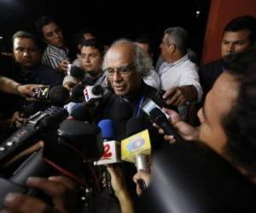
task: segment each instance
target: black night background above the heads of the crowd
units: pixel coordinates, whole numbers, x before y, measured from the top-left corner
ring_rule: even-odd
[[[49,14],[60,24],[67,44],[83,27],[93,29],[105,44],[146,33],[156,56],[163,31],[169,26],[183,26],[189,31],[189,47],[200,57],[209,6],[210,0],[0,0],[0,48],[9,50],[14,32],[33,32],[34,21]],[[196,11],[201,13],[196,15]]]

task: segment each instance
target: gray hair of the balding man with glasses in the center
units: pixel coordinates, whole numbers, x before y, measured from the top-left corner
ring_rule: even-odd
[[[148,76],[150,69],[152,68],[152,60],[150,59],[148,54],[145,53],[143,49],[138,47],[136,43],[131,42],[126,38],[121,38],[119,40],[116,40],[115,42],[112,43],[109,49],[111,49],[113,46],[118,45],[120,43],[126,43],[131,47],[131,57],[135,66],[134,71],[137,72],[137,74],[141,78]],[[107,57],[108,57],[109,49],[104,56],[103,63],[102,63],[102,70],[105,70],[108,67]]]

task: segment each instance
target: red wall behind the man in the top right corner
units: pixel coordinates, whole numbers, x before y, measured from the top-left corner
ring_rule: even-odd
[[[220,44],[224,26],[233,18],[251,14],[256,17],[255,0],[212,0],[201,65],[220,58]]]

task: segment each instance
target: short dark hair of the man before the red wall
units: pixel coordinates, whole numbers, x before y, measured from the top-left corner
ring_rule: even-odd
[[[253,45],[256,41],[256,19],[251,15],[236,17],[224,27],[224,32],[238,32],[248,30],[250,33],[250,43]]]

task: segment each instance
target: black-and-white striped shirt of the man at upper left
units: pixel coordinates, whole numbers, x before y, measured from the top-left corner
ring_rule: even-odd
[[[48,44],[44,50],[42,57],[42,64],[44,66],[50,66],[53,69],[57,68],[62,60],[69,60],[68,49],[59,49],[55,46]]]

